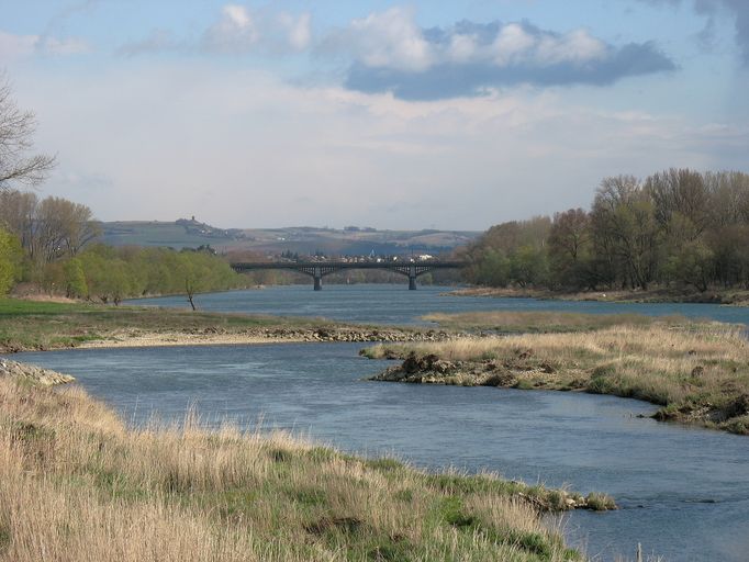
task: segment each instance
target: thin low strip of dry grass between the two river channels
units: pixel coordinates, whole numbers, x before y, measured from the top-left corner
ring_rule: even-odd
[[[569,312],[494,311],[428,314],[422,319],[449,329],[492,330],[501,334],[590,331],[612,326],[686,324],[680,316],[653,317],[642,314],[582,314]]]

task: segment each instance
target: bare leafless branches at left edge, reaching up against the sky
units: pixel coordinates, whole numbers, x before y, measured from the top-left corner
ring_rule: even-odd
[[[11,88],[0,76],[0,191],[15,184],[36,186],[55,166],[55,157],[30,155],[36,116],[19,109]]]

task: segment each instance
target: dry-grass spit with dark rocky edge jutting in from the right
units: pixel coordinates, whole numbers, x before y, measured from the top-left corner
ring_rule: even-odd
[[[378,345],[362,355],[406,359],[380,380],[614,394],[662,406],[660,419],[749,435],[749,341],[736,326],[625,324]]]

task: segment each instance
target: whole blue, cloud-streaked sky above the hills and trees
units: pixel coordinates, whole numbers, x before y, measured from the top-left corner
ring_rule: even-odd
[[[480,231],[749,171],[747,0],[0,0],[0,71],[103,221]]]

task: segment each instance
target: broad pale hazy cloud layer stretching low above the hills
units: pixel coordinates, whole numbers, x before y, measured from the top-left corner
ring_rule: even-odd
[[[103,220],[343,226],[376,216],[380,227],[481,229],[586,206],[612,173],[738,168],[736,147],[749,142],[736,127],[595,111],[574,92],[406,102],[209,63],[14,82],[37,112],[40,150],[58,153],[44,191]]]

